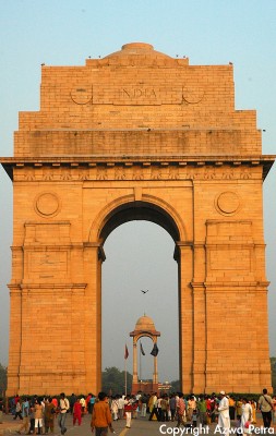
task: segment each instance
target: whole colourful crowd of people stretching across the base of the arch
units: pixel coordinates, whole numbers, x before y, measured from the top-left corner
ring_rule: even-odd
[[[263,426],[269,428],[272,422],[276,423],[276,396],[273,398],[263,389],[259,399],[236,398],[227,396],[225,391],[219,395],[190,395],[182,392],[163,393],[152,392],[146,395],[139,392],[135,396],[116,395],[107,396],[99,392],[97,398],[93,393],[75,396],[68,399],[64,392],[59,397],[32,398],[15,396],[10,403],[13,420],[22,421],[17,433],[36,435],[55,432],[57,422],[61,434],[67,432],[65,422],[68,413],[72,415],[73,425],[81,425],[84,414],[92,414],[91,427],[96,429],[96,436],[103,429],[112,428],[112,421],[125,419],[125,427],[131,427],[132,419],[142,417],[148,421],[176,422],[181,425],[197,427],[211,423],[225,429],[225,434],[231,425],[231,421],[239,425],[242,434],[248,434],[249,425],[256,424],[256,412],[263,417]],[[0,423],[2,420],[3,401],[0,398]],[[98,428],[101,431],[98,432]]]

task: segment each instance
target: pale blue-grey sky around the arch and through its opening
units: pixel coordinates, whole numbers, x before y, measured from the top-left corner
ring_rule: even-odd
[[[236,109],[257,110],[257,126],[265,130],[263,154],[276,154],[275,23],[275,0],[0,0],[0,155],[13,155],[19,111],[39,109],[43,62],[83,65],[89,56],[104,57],[133,41],[149,43],[172,57],[187,56],[190,64],[231,61]],[[276,355],[275,189],[273,167],[264,185],[271,355]],[[7,364],[12,185],[2,168],[0,199],[0,362]],[[131,222],[110,234],[105,251],[104,367],[123,368],[124,342],[131,351],[129,332],[145,311],[161,331],[159,378],[178,378],[177,264],[171,238],[153,223]],[[143,295],[141,289],[149,292]],[[233,319],[237,323],[242,320]],[[148,353],[149,340],[143,347]],[[130,354],[129,371],[131,363]],[[147,355],[142,378],[152,371]]]

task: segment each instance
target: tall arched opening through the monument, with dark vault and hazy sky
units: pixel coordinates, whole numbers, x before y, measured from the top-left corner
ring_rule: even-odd
[[[151,316],[158,338],[158,380],[179,379],[179,301],[173,221],[158,208],[122,207],[109,217],[101,231],[106,261],[103,264],[103,371],[124,368],[132,373],[132,338],[137,318]],[[129,221],[129,222],[128,222]],[[152,221],[152,222],[148,222]],[[175,257],[175,258],[173,258]],[[142,292],[142,291],[145,291]],[[153,378],[153,343],[142,338],[145,355],[139,353],[139,377]],[[119,392],[120,393],[120,392]]]

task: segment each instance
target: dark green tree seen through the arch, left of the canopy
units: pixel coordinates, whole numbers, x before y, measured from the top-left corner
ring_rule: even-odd
[[[124,371],[120,371],[117,367],[107,367],[101,373],[101,389],[106,393],[124,393]],[[132,375],[127,372],[127,386],[128,393],[132,387]]]

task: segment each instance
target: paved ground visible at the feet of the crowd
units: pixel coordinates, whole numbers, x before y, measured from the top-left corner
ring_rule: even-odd
[[[91,432],[91,416],[85,415],[83,417],[83,422],[81,426],[73,426],[72,416],[67,416],[67,435],[65,436],[91,436],[93,435]],[[235,424],[235,423],[233,423]],[[0,424],[0,435],[4,436],[15,436],[16,431],[21,425],[20,421],[13,421],[12,415],[3,415],[3,424]],[[261,428],[262,420],[261,416],[257,417],[256,427]],[[120,420],[113,423],[113,428],[116,432],[116,436],[163,436],[163,435],[172,435],[177,436],[177,433],[173,433],[173,428],[176,426],[175,422],[169,423],[159,423],[157,421],[148,421],[148,419],[137,419],[132,420],[131,428],[125,428],[125,421]],[[233,425],[235,428],[235,425]],[[219,433],[215,433],[216,424],[212,424],[205,435],[209,436],[219,436]],[[271,428],[271,434],[276,435],[276,424]],[[110,434],[110,433],[109,433]],[[202,433],[204,435],[204,433]],[[58,424],[56,423],[55,435],[60,436]],[[94,433],[95,435],[95,433]],[[111,435],[111,434],[110,434]],[[178,435],[188,435],[191,436],[190,432],[179,433]],[[195,433],[194,436],[197,436]],[[193,436],[192,435],[192,436]],[[262,433],[261,433],[262,435]],[[238,436],[238,435],[237,435]]]

